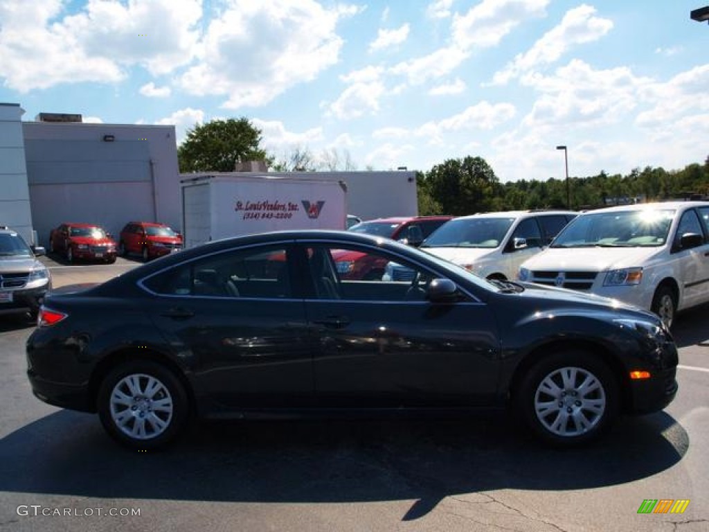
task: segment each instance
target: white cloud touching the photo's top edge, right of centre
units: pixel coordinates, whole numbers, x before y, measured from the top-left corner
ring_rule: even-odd
[[[545,14],[549,0],[482,0],[466,14],[453,17],[455,45],[464,50],[496,46],[510,31]]]

